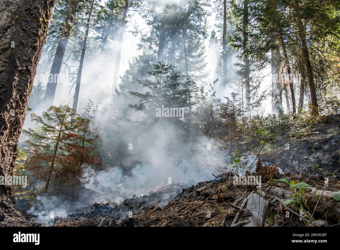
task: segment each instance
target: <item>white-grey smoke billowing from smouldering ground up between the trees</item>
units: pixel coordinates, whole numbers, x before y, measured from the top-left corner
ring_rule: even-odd
[[[162,4],[156,11],[162,11],[167,3],[164,1]],[[135,22],[143,32],[147,33],[150,30],[139,14],[135,14],[130,20],[130,27],[124,34],[120,76],[128,69],[128,62],[140,54],[137,51],[137,44],[143,32],[137,37],[132,35],[131,29]],[[210,24],[213,26],[214,23]],[[94,129],[102,138],[101,154],[104,166],[101,170],[85,164],[82,166],[82,176],[78,177],[82,188],[72,202],[62,195],[37,196],[27,213],[36,216],[41,222],[49,221],[53,216],[67,217],[67,214],[76,208],[94,202],[120,202],[133,195],[142,196],[163,185],[183,181],[187,186],[195,185],[212,179],[211,174],[226,163],[224,160],[226,154],[222,150],[225,145],[220,141],[208,138],[198,131],[196,134],[186,134],[167,117],[147,123],[143,113],[128,107],[129,103],[138,103],[138,99],[130,95],[112,98],[118,41],[112,41],[104,54],[97,52],[98,48],[93,47],[95,41],[91,41],[91,38],[89,41],[77,113],[83,111],[88,99],[98,104],[99,112]],[[209,39],[205,39],[204,43],[208,62],[206,71],[209,72],[205,80],[211,83],[218,78],[216,69],[221,51],[219,46],[210,46]],[[47,51],[44,53],[35,81],[40,79],[40,74],[49,72],[51,67]],[[65,58],[67,57],[68,55],[65,55]],[[231,92],[238,79],[234,66],[234,63],[238,62],[235,54],[231,53],[228,61],[230,62],[228,86],[218,86],[216,89],[217,96],[221,99]],[[77,61],[68,60],[66,63],[70,68],[78,67]],[[68,72],[67,70],[68,68],[63,68],[61,73]],[[136,82],[137,79],[133,80]],[[74,88],[70,90],[69,85],[70,82],[57,85],[54,105],[72,105]],[[46,109],[47,107],[40,107],[33,112],[41,114]],[[186,116],[184,117],[185,122]],[[34,126],[29,118],[26,119],[25,129]],[[24,139],[25,137],[22,137],[21,141]],[[165,195],[164,200],[167,198]]]

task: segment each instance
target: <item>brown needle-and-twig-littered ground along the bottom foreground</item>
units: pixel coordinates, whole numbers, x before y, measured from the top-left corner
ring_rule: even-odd
[[[260,171],[258,169],[258,171]],[[278,178],[287,178],[295,180],[301,178],[301,175],[286,173],[279,174]],[[233,174],[223,173],[217,180],[200,182],[197,185],[184,188],[180,194],[172,199],[167,205],[159,206],[156,202],[161,197],[163,191],[160,188],[153,194],[153,197],[143,196],[127,199],[120,204],[116,203],[95,203],[89,208],[73,214],[73,218],[55,219],[53,226],[94,226],[94,227],[206,227],[206,226],[230,226],[237,210],[228,205],[228,202],[240,206],[243,200],[251,193],[262,193],[268,187],[284,187],[288,185],[283,182],[273,181],[269,176],[265,177],[265,184],[257,189],[255,185],[234,185]],[[308,184],[316,186],[324,185],[323,180],[304,180]],[[299,181],[300,182],[300,181]],[[209,184],[207,186],[207,184]],[[198,191],[198,189],[201,189]],[[332,180],[329,188],[340,188],[340,182]],[[164,187],[163,187],[164,188]],[[169,189],[168,186],[166,189]],[[160,193],[158,193],[160,192]],[[265,226],[306,226],[298,216],[292,214],[289,218],[285,217],[288,211],[280,207],[280,203],[270,198],[269,212],[265,221]],[[153,199],[157,197],[157,199]],[[142,204],[142,205],[141,205]],[[150,205],[152,204],[152,205]],[[137,208],[137,209],[136,209]],[[279,208],[279,209],[278,209]],[[126,213],[129,209],[132,213]],[[117,214],[120,211],[125,213],[124,216]],[[312,213],[312,211],[310,211]],[[119,219],[120,217],[120,219]],[[316,219],[317,216],[314,216]],[[320,220],[322,221],[322,220]],[[329,225],[332,223],[328,221]]]

